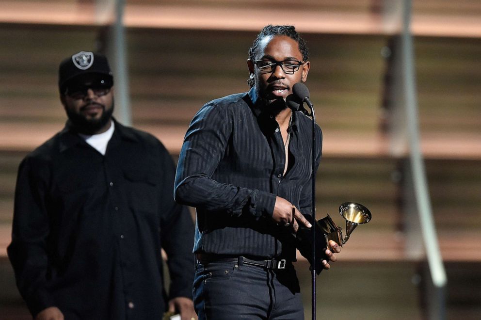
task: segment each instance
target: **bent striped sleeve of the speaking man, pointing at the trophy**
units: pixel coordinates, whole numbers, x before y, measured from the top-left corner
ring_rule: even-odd
[[[177,165],[176,201],[207,211],[233,216],[247,213],[272,216],[275,194],[221,183],[212,179],[228,150],[233,123],[230,106],[209,103],[192,119]]]

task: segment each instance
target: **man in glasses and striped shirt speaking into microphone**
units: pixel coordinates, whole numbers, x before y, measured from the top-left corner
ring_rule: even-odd
[[[307,80],[308,49],[293,26],[268,25],[247,66],[250,91],[204,105],[180,152],[176,201],[197,212],[194,305],[199,319],[304,319],[292,262],[299,225],[311,227],[322,134],[312,154],[312,122],[286,97]],[[336,256],[321,259],[329,269]]]

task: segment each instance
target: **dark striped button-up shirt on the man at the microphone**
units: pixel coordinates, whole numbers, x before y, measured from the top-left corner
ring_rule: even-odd
[[[316,168],[322,134],[316,126]],[[311,214],[312,121],[294,112],[289,169],[284,141],[256,89],[213,100],[194,116],[176,174],[176,200],[196,208],[194,252],[282,256],[295,260],[295,238],[272,220],[276,196]]]

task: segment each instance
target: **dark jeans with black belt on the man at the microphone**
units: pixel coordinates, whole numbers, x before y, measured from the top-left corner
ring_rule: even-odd
[[[299,281],[286,269],[229,261],[198,261],[193,284],[199,320],[303,320]]]

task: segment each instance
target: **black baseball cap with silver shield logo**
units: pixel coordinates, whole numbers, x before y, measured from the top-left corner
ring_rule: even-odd
[[[59,90],[65,92],[70,83],[85,79],[86,75],[95,76],[113,85],[112,70],[104,55],[90,51],[80,51],[62,61],[59,66]]]

